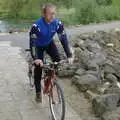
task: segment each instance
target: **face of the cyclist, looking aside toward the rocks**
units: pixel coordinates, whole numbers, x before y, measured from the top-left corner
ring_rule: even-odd
[[[51,23],[55,18],[56,8],[47,8],[44,13],[44,18],[47,23]]]

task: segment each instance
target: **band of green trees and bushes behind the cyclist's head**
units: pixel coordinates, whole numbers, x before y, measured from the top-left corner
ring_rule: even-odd
[[[14,19],[37,19],[40,5],[54,3],[66,24],[120,20],[120,0],[0,0],[0,14]]]

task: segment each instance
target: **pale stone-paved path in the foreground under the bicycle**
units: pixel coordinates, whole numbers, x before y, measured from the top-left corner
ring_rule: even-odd
[[[34,100],[21,48],[10,44],[0,42],[0,120],[51,120],[47,97],[42,104]],[[65,120],[81,120],[68,103],[66,111]]]

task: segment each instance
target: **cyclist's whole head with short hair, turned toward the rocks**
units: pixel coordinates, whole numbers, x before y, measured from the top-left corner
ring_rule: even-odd
[[[55,18],[56,6],[53,4],[45,4],[42,6],[42,15],[47,23],[51,23]]]

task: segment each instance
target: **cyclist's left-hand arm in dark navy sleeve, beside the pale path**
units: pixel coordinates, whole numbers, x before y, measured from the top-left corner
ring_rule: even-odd
[[[29,33],[29,37],[30,37],[29,46],[30,46],[31,56],[34,60],[37,59],[36,40],[38,37],[38,32],[39,29],[37,25],[33,24]]]

